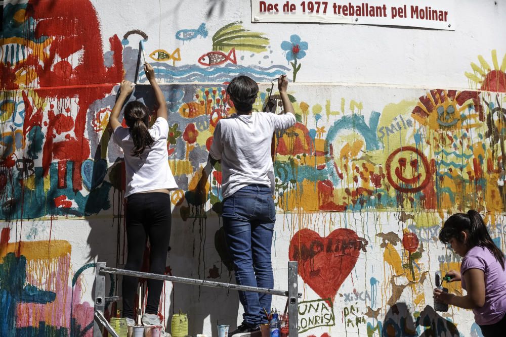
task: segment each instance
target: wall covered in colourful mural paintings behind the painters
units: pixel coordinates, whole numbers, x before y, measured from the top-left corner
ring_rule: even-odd
[[[251,76],[255,109],[279,113],[271,81],[286,73],[297,123],[276,134],[272,249],[276,288],[299,261],[300,335],[481,335],[470,311],[435,312],[432,290],[436,271],[459,267],[437,240],[449,214],[479,210],[506,251],[506,30],[496,25],[506,27],[491,23],[506,10],[459,6],[458,28],[442,32],[251,24],[245,0],[6,2],[0,335],[92,335],[94,263],[126,258],[124,164],[107,129],[118,82],[155,102],[141,39],[170,111],[180,187],[167,205],[167,274],[233,282],[219,165],[205,200],[196,185],[217,122],[234,112],[227,81]],[[119,285],[112,278],[109,293]],[[189,314],[191,334],[242,319],[225,290],[166,282],[160,301],[165,319]]]

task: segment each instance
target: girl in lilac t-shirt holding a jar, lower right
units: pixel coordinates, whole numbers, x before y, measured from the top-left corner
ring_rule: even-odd
[[[434,298],[445,304],[472,309],[485,337],[506,334],[506,271],[504,254],[492,241],[480,214],[474,210],[453,214],[439,239],[463,257],[460,272],[451,270],[449,282],[461,281],[466,296],[436,289]]]

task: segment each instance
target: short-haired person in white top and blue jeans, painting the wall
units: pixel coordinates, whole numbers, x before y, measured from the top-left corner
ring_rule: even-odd
[[[210,165],[221,161],[223,227],[228,250],[234,261],[237,284],[263,288],[274,286],[271,245],[276,220],[273,201],[274,168],[271,143],[275,131],[293,126],[296,118],[288,99],[288,80],[278,79],[284,114],[252,111],[258,85],[247,76],[235,77],[227,88],[236,114],[221,119],[209,150]],[[205,178],[205,175],[204,175]],[[271,295],[239,292],[244,307],[243,322],[230,333],[260,335],[267,323]]]

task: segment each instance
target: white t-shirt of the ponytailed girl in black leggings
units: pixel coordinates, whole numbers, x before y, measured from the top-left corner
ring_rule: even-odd
[[[149,129],[154,142],[146,147],[140,157],[132,156],[134,141],[129,128],[118,126],[114,129],[113,139],[121,147],[125,160],[126,190],[125,198],[138,192],[153,189],[176,189],[178,184],[168,166],[167,135],[168,123],[158,117]]]

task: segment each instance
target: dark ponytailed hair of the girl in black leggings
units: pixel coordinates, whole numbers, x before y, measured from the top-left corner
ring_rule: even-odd
[[[124,110],[126,125],[130,128],[130,135],[134,141],[132,156],[141,157],[146,147],[151,147],[154,140],[149,134],[148,108],[138,101],[129,102]]]

